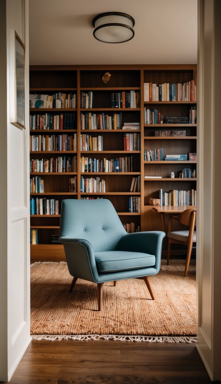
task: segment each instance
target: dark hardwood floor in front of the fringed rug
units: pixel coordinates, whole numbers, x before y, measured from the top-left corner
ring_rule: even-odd
[[[195,343],[32,341],[11,384],[210,383]]]

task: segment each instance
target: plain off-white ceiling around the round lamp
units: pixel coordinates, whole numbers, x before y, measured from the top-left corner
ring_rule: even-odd
[[[197,0],[29,0],[30,65],[195,64]],[[93,18],[124,12],[135,36],[107,44]]]

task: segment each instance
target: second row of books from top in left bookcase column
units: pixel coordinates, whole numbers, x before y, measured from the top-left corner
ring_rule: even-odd
[[[45,129],[75,129],[75,113],[61,113],[59,115],[31,114],[30,130],[45,130]]]

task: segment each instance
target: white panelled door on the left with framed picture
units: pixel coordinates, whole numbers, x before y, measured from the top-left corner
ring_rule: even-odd
[[[31,340],[28,1],[2,0],[0,13],[0,380],[8,381]]]

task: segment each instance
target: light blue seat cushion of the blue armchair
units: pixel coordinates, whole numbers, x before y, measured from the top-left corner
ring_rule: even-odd
[[[98,272],[117,272],[155,265],[155,256],[142,252],[107,251],[94,253]]]

